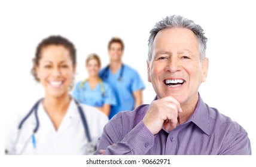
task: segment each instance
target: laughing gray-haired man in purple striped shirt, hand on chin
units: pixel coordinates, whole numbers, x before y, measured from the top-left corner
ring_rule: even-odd
[[[106,124],[95,154],[251,154],[245,129],[198,93],[208,72],[203,29],[181,16],[161,20],[150,32],[150,105],[120,112]]]

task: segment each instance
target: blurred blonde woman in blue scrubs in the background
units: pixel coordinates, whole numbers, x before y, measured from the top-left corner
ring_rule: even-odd
[[[96,107],[109,116],[112,105],[116,104],[111,87],[99,78],[100,58],[96,54],[88,55],[86,69],[89,78],[75,86],[73,96],[80,102]]]

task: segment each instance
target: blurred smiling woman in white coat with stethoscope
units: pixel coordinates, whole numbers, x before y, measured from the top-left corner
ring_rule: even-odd
[[[44,39],[32,73],[45,96],[8,126],[6,154],[92,154],[108,118],[69,95],[75,75],[74,45],[62,36]]]

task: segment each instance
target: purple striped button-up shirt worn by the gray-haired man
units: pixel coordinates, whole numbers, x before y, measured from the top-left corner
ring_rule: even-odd
[[[170,132],[151,134],[142,123],[148,107],[115,115],[103,129],[95,154],[251,154],[245,129],[205,104],[200,95],[193,115]]]

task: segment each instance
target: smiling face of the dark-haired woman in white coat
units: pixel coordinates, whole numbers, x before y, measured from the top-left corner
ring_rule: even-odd
[[[62,45],[48,45],[42,48],[41,58],[36,66],[36,76],[45,89],[45,95],[63,97],[68,95],[69,86],[75,75],[71,55]]]

